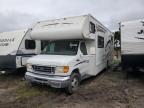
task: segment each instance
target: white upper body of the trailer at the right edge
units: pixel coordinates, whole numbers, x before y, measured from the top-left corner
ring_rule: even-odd
[[[144,19],[121,23],[122,54],[144,54]]]

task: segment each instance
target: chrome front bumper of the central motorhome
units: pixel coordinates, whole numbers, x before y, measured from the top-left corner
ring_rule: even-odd
[[[70,83],[70,76],[47,76],[26,72],[25,78],[30,82],[46,84],[54,88],[65,88]]]

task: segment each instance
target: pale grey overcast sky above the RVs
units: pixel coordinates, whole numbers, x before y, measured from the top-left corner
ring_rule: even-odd
[[[144,0],[0,0],[0,32],[88,13],[114,31],[120,21],[144,18]]]

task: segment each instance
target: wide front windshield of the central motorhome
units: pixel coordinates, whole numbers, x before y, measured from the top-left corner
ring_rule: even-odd
[[[79,41],[59,40],[49,41],[44,47],[42,54],[49,55],[76,55]]]

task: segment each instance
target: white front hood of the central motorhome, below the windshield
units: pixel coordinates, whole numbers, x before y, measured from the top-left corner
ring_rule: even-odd
[[[76,56],[67,55],[37,55],[28,59],[27,63],[32,65],[43,65],[43,66],[64,66],[70,65]]]

